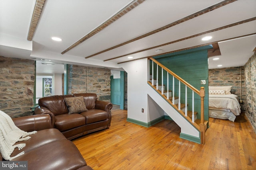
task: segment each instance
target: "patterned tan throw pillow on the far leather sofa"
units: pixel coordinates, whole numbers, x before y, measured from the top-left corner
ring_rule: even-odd
[[[81,113],[83,111],[88,111],[88,109],[86,108],[83,96],[64,98],[64,101],[68,106],[68,114]]]

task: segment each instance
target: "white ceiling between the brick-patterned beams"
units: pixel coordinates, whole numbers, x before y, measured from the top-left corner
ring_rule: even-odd
[[[0,55],[24,59],[50,59],[50,62],[55,65],[42,66],[41,64],[37,66],[37,71],[47,70],[47,73],[51,73],[59,69],[58,64],[61,68],[63,64],[78,64],[122,70],[122,64],[118,63],[161,54],[156,53],[156,49],[162,49],[162,53],[167,53],[213,42],[218,42],[221,56],[218,56],[220,58],[218,61],[212,61],[214,57],[210,57],[209,68],[217,68],[219,64],[222,64],[222,68],[243,66],[254,53],[256,0],[234,0],[234,2],[180,22],[175,26],[94,55],[220,2],[228,2],[144,0],[102,31],[63,55],[61,54],[131,2],[133,1],[46,0],[34,37],[32,41],[28,41],[28,31],[36,0],[0,0]],[[250,18],[252,18],[251,21],[243,23],[244,20]],[[230,25],[237,22],[241,23]],[[229,26],[219,29],[226,25]],[[206,31],[209,33],[205,33]],[[202,41],[202,37],[206,35],[212,36],[212,39]],[[51,37],[60,37],[63,41],[56,42]],[[155,47],[172,41],[177,42]],[[85,59],[90,55],[94,56]],[[132,56],[133,59],[128,59],[128,56]],[[115,57],[118,58],[113,59]],[[51,70],[52,68],[55,68],[55,71]]]

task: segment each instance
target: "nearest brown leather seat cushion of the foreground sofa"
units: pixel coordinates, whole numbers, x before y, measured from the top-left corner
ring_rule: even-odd
[[[49,143],[13,159],[25,160],[28,161],[28,170],[75,170],[87,165],[79,150],[69,140]]]

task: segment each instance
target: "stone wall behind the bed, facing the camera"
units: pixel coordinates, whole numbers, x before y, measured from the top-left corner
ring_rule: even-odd
[[[241,74],[241,70],[242,70],[242,74]],[[242,76],[242,79],[241,79],[241,76]],[[241,90],[242,90],[243,103],[241,103],[240,106],[242,111],[246,110],[245,108],[246,88],[245,88],[244,66],[209,69],[208,80],[209,80],[209,86],[232,86],[231,93],[236,94],[239,99],[241,99]],[[242,81],[242,86],[241,86],[241,81]]]

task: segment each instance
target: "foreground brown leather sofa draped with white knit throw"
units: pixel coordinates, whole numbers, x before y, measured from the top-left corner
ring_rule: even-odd
[[[30,115],[13,118],[13,121],[21,130],[37,133],[29,135],[31,138],[27,141],[16,143],[26,143],[26,146],[21,150],[15,148],[11,157],[25,153],[12,161],[28,161],[28,170],[92,170],[76,146],[52,128],[50,115]],[[1,154],[0,160],[3,160]]]

